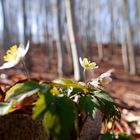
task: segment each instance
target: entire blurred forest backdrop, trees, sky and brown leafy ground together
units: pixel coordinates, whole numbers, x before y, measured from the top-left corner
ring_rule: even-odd
[[[116,126],[140,138],[140,0],[0,0],[0,64],[11,45],[28,40],[33,77],[83,80],[79,57],[97,62],[96,76],[113,68],[106,88],[122,108]],[[22,77],[17,67],[3,73]]]

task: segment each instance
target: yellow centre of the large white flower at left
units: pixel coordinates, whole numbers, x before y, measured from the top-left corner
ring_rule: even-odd
[[[18,56],[18,48],[17,45],[13,45],[4,56],[4,61],[6,62],[14,62]]]

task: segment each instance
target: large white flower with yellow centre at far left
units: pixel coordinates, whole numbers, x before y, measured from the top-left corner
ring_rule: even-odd
[[[5,63],[2,66],[0,66],[0,70],[12,68],[15,65],[17,65],[20,62],[20,60],[24,58],[28,50],[29,41],[26,47],[24,47],[24,45],[22,44],[20,44],[19,47],[17,47],[17,45],[13,45],[4,56]]]

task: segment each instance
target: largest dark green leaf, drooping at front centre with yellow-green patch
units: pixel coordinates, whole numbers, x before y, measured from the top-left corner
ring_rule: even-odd
[[[43,119],[44,128],[55,140],[68,140],[76,116],[77,110],[72,100],[66,96],[53,96],[53,101],[48,104]]]

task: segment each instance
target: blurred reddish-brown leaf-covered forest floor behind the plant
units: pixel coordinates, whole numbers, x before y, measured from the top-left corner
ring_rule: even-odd
[[[130,76],[123,69],[122,56],[120,49],[115,50],[112,57],[107,57],[107,48],[105,49],[104,61],[99,61],[97,57],[97,48],[92,47],[94,61],[99,66],[95,71],[96,76],[113,68],[115,71],[112,75],[112,83],[106,86],[109,93],[115,98],[115,101],[122,109],[122,122],[119,123],[118,129],[120,132],[132,134],[137,139],[140,138],[140,76]],[[46,50],[42,46],[35,46],[31,51],[32,72],[31,76],[40,80],[53,80],[58,77],[57,74],[57,53],[53,50],[55,55],[52,56],[51,61],[48,60]],[[48,66],[48,62],[51,67]],[[66,77],[71,77],[71,62],[66,63]],[[20,67],[20,66],[19,66]],[[19,69],[10,69],[3,71],[8,74],[8,78],[12,81],[17,81],[24,77]]]

